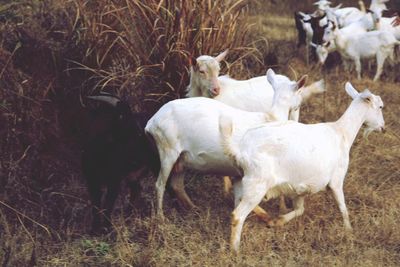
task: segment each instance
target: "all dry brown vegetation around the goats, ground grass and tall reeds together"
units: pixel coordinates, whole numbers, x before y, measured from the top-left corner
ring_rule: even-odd
[[[196,12],[198,4],[179,2],[147,1],[144,6],[141,1],[104,1],[104,5],[90,6],[85,1],[66,1],[66,5],[50,1],[46,2],[47,10],[40,1],[31,1],[40,8],[23,9],[27,12],[22,13],[24,18],[11,12],[10,9],[17,8],[15,5],[7,6],[6,11],[0,8],[0,19],[8,18],[1,20],[0,49],[0,85],[5,89],[0,91],[0,263],[3,266],[399,266],[400,95],[396,68],[386,68],[383,80],[374,84],[370,78],[374,70],[366,71],[365,78],[357,81],[354,73],[344,73],[341,67],[321,72],[307,66],[304,50],[295,49],[291,16],[295,8],[310,6],[311,1],[285,0],[277,6],[270,1],[258,1],[252,4],[256,9],[245,6],[232,13],[239,14],[237,24],[230,24],[236,20],[235,15],[224,13],[235,1],[227,1],[227,6],[222,5],[222,0],[198,2],[209,9],[207,12],[225,14],[223,21],[216,13],[200,20],[199,16],[205,13]],[[165,20],[155,22],[156,14],[151,10],[158,3],[172,5],[172,10],[184,5],[179,10],[190,11],[192,16],[165,12]],[[60,10],[58,5],[63,8]],[[40,12],[29,21],[32,10]],[[49,14],[49,10],[57,12]],[[246,15],[247,12],[251,15]],[[174,27],[180,26],[173,22],[178,17],[184,25],[198,25],[203,30],[192,37],[183,31],[176,33]],[[248,28],[244,17],[254,25]],[[157,43],[156,35],[160,33],[156,28],[134,29],[137,18],[148,18],[149,25],[159,23],[157,30],[168,33],[168,38],[163,44]],[[218,27],[228,23],[232,29],[228,27],[228,32],[219,30],[213,32],[215,36],[208,36],[204,29],[209,27],[207,23],[211,22],[207,19],[211,18],[220,18],[213,21]],[[29,27],[22,27],[25,32],[21,26],[12,28],[10,22],[21,20],[30,22]],[[30,35],[35,29],[41,29],[42,33]],[[137,32],[150,29],[152,32],[145,35]],[[17,47],[14,31],[23,35],[27,43]],[[218,34],[226,37],[223,42],[215,39]],[[141,46],[145,41],[140,38],[145,36],[155,38],[151,39],[153,45]],[[204,42],[204,38],[212,41]],[[168,49],[175,49],[171,44],[176,40],[181,52],[174,54]],[[197,46],[189,45],[190,42]],[[304,73],[312,80],[325,78],[328,91],[302,109],[301,120],[306,123],[331,121],[342,114],[350,103],[344,92],[347,80],[357,89],[368,87],[381,95],[386,106],[387,132],[373,133],[367,140],[361,135],[356,139],[345,180],[354,233],[350,236],[343,233],[333,197],[329,191],[321,192],[307,197],[305,214],[282,228],[267,228],[250,216],[243,230],[241,255],[233,257],[228,241],[232,199],[223,197],[220,179],[188,174],[187,190],[200,208],[197,212],[181,210],[166,196],[167,220],[159,223],[153,214],[154,178],[145,177],[142,206],[134,207],[130,213],[126,192],[122,190],[114,212],[115,232],[104,237],[87,235],[88,196],[80,178],[79,146],[74,145],[80,129],[65,124],[68,122],[65,107],[76,106],[66,96],[78,101],[81,92],[114,90],[132,99],[135,108],[141,109],[145,105],[137,95],[157,93],[165,98],[148,97],[161,102],[180,96],[187,83],[185,67],[191,54],[215,54],[227,47],[234,48],[228,61],[235,64],[227,66],[224,72],[230,70],[235,77],[264,73],[262,59],[274,52],[278,59],[274,64],[280,72],[293,78]],[[28,57],[29,51],[37,54]],[[247,56],[242,58],[242,55]],[[38,66],[38,62],[43,62],[43,66]],[[175,74],[160,72],[160,66],[168,64],[179,65],[180,69]],[[164,67],[165,71],[168,69]],[[143,72],[150,73],[148,79],[136,80]],[[161,73],[159,82],[154,80],[157,73]],[[156,87],[142,88],[146,83]],[[133,92],[135,89],[137,92]],[[76,116],[70,120],[73,118]],[[274,201],[263,206],[277,214]]]

